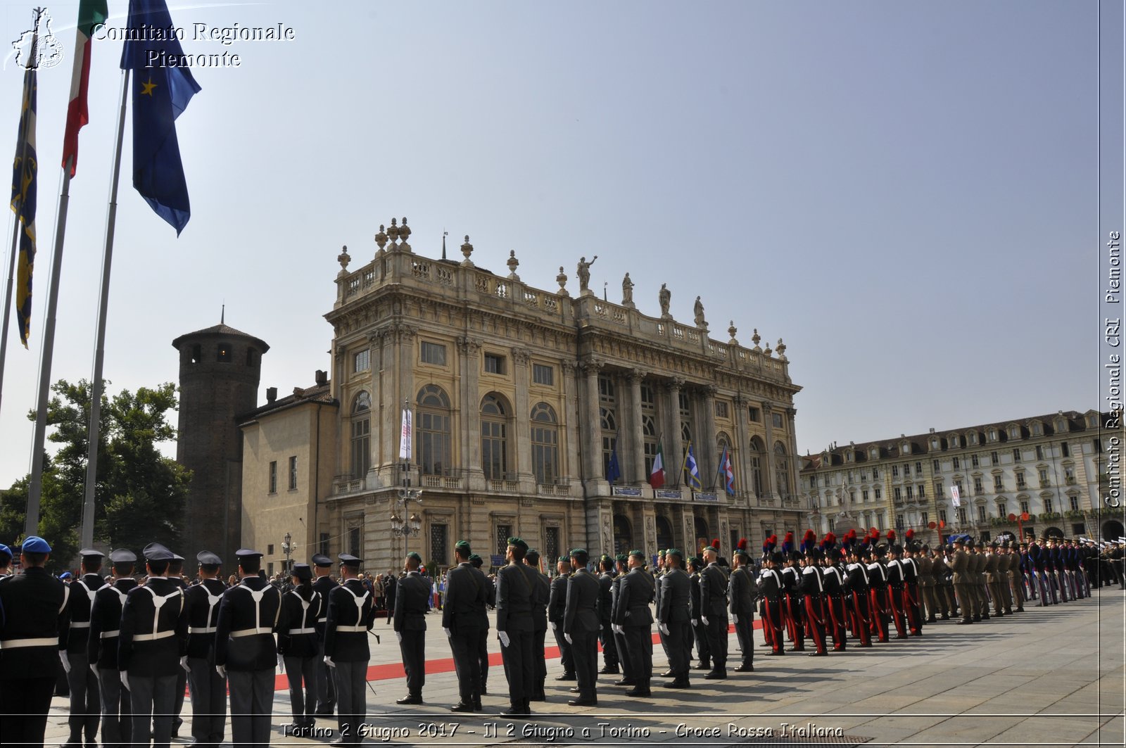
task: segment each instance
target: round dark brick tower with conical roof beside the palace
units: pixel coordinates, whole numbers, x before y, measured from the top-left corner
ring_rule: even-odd
[[[213,551],[230,568],[242,524],[242,434],[236,417],[258,406],[262,354],[270,347],[222,322],[181,335],[172,346],[180,351],[176,461],[193,472],[184,547],[177,551],[189,562],[199,551]]]

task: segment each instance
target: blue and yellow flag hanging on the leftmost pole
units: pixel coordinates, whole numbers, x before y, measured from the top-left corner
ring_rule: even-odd
[[[38,21],[36,21],[38,25]],[[35,196],[39,160],[35,154],[35,66],[38,36],[32,38],[30,62],[24,72],[24,104],[19,114],[16,161],[11,170],[11,210],[18,215],[19,269],[16,274],[16,323],[19,339],[27,348],[32,333],[32,271],[35,269]]]

